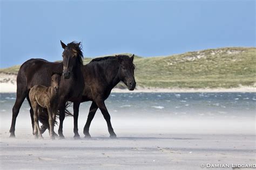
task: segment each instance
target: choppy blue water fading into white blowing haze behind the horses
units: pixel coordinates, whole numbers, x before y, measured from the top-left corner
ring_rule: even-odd
[[[8,131],[16,94],[0,94],[1,128]],[[79,109],[82,134],[91,102]],[[248,133],[255,134],[256,93],[111,93],[105,101],[114,130],[121,133]],[[24,101],[16,130],[31,128],[28,101]],[[72,108],[70,108],[72,111]],[[72,132],[72,118],[64,129]],[[92,132],[107,133],[98,110]]]

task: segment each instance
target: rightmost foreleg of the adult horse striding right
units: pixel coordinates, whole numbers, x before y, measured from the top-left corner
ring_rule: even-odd
[[[106,120],[107,123],[107,129],[109,130],[110,133],[110,138],[116,138],[117,135],[116,133],[114,133],[114,130],[112,128],[111,122],[110,122],[110,115],[109,115],[109,111],[107,111],[106,105],[104,103],[104,100],[102,100],[101,98],[96,100],[96,104],[98,105],[100,111],[102,111],[102,114]]]

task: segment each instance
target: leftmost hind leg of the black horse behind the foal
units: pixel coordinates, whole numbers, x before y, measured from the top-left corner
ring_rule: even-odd
[[[12,108],[12,120],[11,120],[11,128],[10,128],[10,137],[15,137],[15,124],[16,118],[19,114],[19,109],[21,109],[21,105],[25,100],[25,97],[28,95],[28,89],[23,88],[19,89],[17,87],[17,96],[14,107]]]

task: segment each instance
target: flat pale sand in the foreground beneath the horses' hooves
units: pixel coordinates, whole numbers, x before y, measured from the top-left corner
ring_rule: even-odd
[[[207,164],[255,164],[256,158],[255,136],[250,135],[119,134],[117,139],[75,140],[70,134],[55,141],[26,133],[8,136],[1,133],[2,169],[203,169]]]

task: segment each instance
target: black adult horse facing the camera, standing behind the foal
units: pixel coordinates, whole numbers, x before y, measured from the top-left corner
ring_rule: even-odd
[[[50,86],[52,72],[63,72],[59,86],[59,137],[64,138],[62,128],[65,118],[65,104],[67,101],[77,102],[82,100],[84,89],[83,78],[83,53],[80,48],[80,42],[70,42],[65,45],[62,41],[61,45],[64,48],[62,53],[63,62],[49,62],[43,59],[30,59],[23,63],[17,75],[17,96],[14,107],[12,108],[12,122],[10,128],[10,137],[15,137],[15,123],[19,113],[19,109],[25,98],[29,100],[29,91],[36,84]],[[74,106],[74,109],[75,106]],[[33,110],[30,109],[32,126]]]

